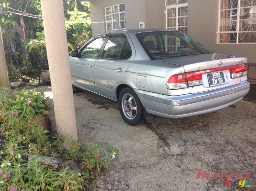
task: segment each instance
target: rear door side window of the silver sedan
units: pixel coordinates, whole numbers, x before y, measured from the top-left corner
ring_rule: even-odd
[[[130,44],[124,35],[111,36],[104,47],[102,57],[109,59],[128,59],[132,55]]]

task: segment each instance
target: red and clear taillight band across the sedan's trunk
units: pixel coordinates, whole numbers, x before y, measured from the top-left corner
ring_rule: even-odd
[[[247,75],[248,65],[241,64],[236,66],[224,67],[224,68],[214,68],[208,70],[201,70],[196,72],[186,72],[184,74],[176,74],[169,78],[167,82],[168,89],[181,89],[188,88],[192,86],[199,86],[203,84],[202,74],[219,72],[224,70],[230,70],[231,78],[239,78]]]

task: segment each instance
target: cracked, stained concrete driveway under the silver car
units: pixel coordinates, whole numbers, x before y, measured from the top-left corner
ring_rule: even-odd
[[[50,87],[42,90],[50,96]],[[235,108],[184,119],[156,117],[132,127],[108,99],[78,92],[74,102],[78,139],[120,149],[95,191],[256,190],[256,103],[240,101]],[[210,176],[196,179],[196,169]],[[247,174],[251,185],[224,185],[221,173],[234,181]]]

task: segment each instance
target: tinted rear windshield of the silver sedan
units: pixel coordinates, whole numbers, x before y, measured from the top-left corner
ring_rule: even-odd
[[[213,53],[192,37],[178,31],[142,32],[136,36],[152,60]]]

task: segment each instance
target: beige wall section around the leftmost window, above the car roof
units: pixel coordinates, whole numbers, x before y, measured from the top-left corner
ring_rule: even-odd
[[[120,3],[125,4],[126,29],[138,29],[141,21],[146,28],[165,28],[165,0],[91,0],[93,35],[106,31],[104,8]]]

